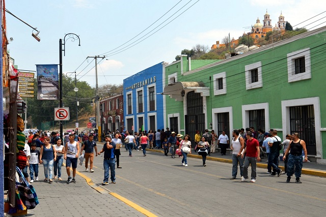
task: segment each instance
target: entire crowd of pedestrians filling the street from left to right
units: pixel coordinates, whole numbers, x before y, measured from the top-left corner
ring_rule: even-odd
[[[104,135],[106,134],[106,135]],[[130,133],[128,130],[119,132],[118,130],[107,133],[103,132],[104,144],[100,151],[97,150],[95,135],[91,132],[75,132],[64,133],[64,141],[61,141],[59,133],[52,131],[51,133],[40,131],[30,135],[26,140],[25,145],[26,155],[28,156],[28,164],[23,170],[23,174],[30,182],[38,181],[38,165],[43,164],[44,181],[52,183],[53,179],[62,180],[61,167],[63,161],[66,160],[66,172],[68,175],[67,183],[76,183],[76,168],[79,156],[85,159],[85,171],[94,172],[93,160],[94,149],[95,156],[104,152],[103,168],[104,179],[102,184],[108,184],[109,173],[111,173],[111,183],[116,183],[115,167],[121,168],[119,165],[119,156],[121,155],[120,148],[122,144],[129,156],[132,157],[133,150],[142,150],[143,156],[146,156],[146,148],[149,149],[164,149],[165,156],[169,152],[171,158],[176,155],[182,157],[181,164],[188,166],[187,154],[192,153],[191,137],[188,134],[184,136],[170,131],[169,128],[158,129],[157,131],[149,130],[149,132],[141,131]],[[203,167],[206,167],[206,156],[210,153],[215,153],[216,148],[220,147],[221,155],[227,154],[227,149],[232,151],[232,177],[236,179],[238,165],[240,170],[241,181],[247,181],[249,178],[248,168],[251,166],[251,182],[256,182],[256,162],[261,161],[264,153],[267,155],[267,173],[273,176],[280,176],[282,170],[279,168],[280,151],[283,149],[283,160],[285,162],[284,174],[287,174],[287,182],[290,182],[291,176],[294,174],[296,183],[301,183],[301,171],[303,161],[307,161],[306,144],[300,139],[300,134],[287,134],[286,140],[283,142],[277,135],[277,130],[270,129],[269,132],[264,132],[261,129],[255,131],[254,127],[244,129],[235,129],[232,131],[232,140],[229,141],[228,135],[222,131],[220,135],[214,133],[214,130],[205,130],[200,135],[199,131],[195,134],[195,152],[202,156]],[[80,148],[80,145],[81,148]],[[83,154],[83,151],[84,154]],[[305,154],[305,159],[302,158],[302,153]],[[82,161],[81,161],[82,162]],[[88,163],[90,162],[90,165]],[[82,164],[80,164],[82,165]],[[89,167],[88,167],[89,166]],[[30,168],[30,179],[27,173],[27,168]],[[72,168],[72,176],[70,173]],[[52,177],[54,174],[54,177]]]

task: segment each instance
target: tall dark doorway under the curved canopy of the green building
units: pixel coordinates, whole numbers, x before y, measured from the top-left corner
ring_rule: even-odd
[[[187,115],[184,116],[185,133],[190,135],[192,139],[192,146],[194,148],[196,146],[194,140],[196,130],[199,130],[201,133],[205,131],[203,97],[200,95],[200,93],[191,91],[187,93],[186,100]]]

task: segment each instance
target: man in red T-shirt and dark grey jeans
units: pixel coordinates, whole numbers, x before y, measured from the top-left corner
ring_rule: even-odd
[[[259,155],[259,142],[255,138],[253,138],[252,132],[247,132],[247,146],[244,148],[244,151],[241,155],[243,158],[244,154],[246,157],[244,158],[243,163],[243,178],[241,181],[246,181],[248,179],[248,167],[251,165],[251,182],[256,182],[256,160],[260,161]]]

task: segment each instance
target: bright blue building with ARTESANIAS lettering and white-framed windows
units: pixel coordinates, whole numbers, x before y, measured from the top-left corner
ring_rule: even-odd
[[[165,128],[163,74],[165,62],[123,80],[123,111],[126,130],[139,132]]]

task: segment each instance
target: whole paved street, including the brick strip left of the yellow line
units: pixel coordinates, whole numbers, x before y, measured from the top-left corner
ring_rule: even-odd
[[[100,150],[100,144],[98,144]],[[302,184],[286,175],[270,176],[257,169],[257,181],[241,182],[240,172],[230,180],[232,165],[188,157],[166,157],[162,153],[121,149],[116,184],[102,186],[103,154],[94,157],[94,173],[77,167],[77,183],[34,182],[40,204],[29,216],[324,216],[326,178],[303,175]],[[79,161],[78,161],[79,163]],[[249,175],[250,175],[249,168]],[[110,180],[109,180],[110,181]],[[250,179],[249,179],[250,181]]]

